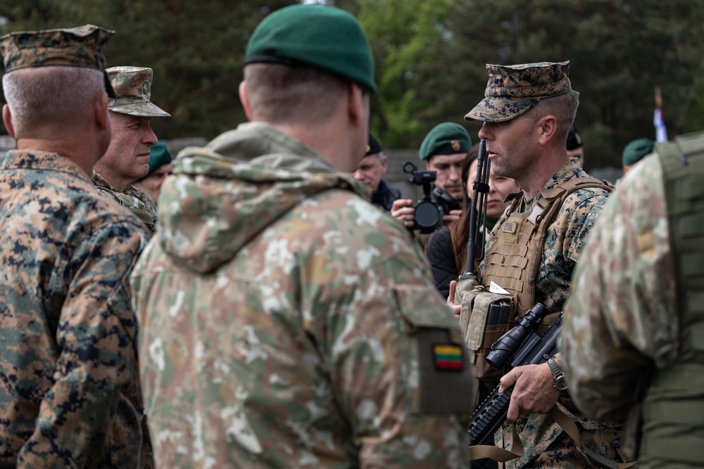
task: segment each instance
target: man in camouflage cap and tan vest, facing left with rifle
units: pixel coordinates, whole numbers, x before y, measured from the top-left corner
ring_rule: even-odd
[[[515,295],[521,314],[542,302],[553,314],[552,321],[570,294],[570,276],[584,237],[610,188],[591,179],[577,158],[567,157],[565,141],[579,105],[568,77],[569,62],[486,69],[486,97],[465,119],[484,121],[479,138],[486,141],[491,169],[515,179],[522,194],[512,200],[486,240],[482,285],[488,288],[494,282]],[[544,243],[538,243],[541,232]],[[558,375],[559,354],[553,361]],[[585,451],[618,457],[614,440],[622,422],[579,415],[569,404],[569,392],[555,388],[558,383],[548,364],[513,368],[501,378],[502,391],[513,383],[508,421],[517,420],[524,452],[506,467],[588,467]],[[555,405],[577,422],[583,445],[547,415]],[[495,440],[497,446],[515,448],[510,425],[503,425]]]

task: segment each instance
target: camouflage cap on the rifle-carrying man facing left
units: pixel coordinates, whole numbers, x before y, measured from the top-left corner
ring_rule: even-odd
[[[486,64],[489,82],[484,99],[465,115],[466,120],[504,122],[533,108],[541,99],[572,91],[570,61],[521,65]]]

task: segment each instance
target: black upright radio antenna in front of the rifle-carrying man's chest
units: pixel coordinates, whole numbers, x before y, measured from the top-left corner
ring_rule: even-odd
[[[470,204],[470,233],[467,239],[467,266],[465,272],[459,278],[478,278],[477,269],[474,269],[474,261],[484,259],[484,236],[486,233],[480,231],[482,225],[486,226],[486,203],[489,198],[489,169],[491,160],[486,155],[486,141],[479,141],[479,154],[477,155],[477,177],[474,179],[474,192],[472,193],[472,203]],[[478,205],[478,207],[477,207]],[[479,219],[479,223],[477,223]],[[479,242],[477,242],[479,241]]]

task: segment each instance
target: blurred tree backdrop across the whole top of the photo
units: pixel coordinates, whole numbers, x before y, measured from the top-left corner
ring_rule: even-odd
[[[92,23],[115,30],[108,66],[154,71],[160,139],[200,143],[245,122],[237,96],[244,49],[284,0],[0,0],[0,33]],[[310,3],[310,2],[308,2]],[[655,139],[655,90],[672,137],[704,129],[704,0],[338,0],[375,56],[370,130],[389,179],[435,124],[459,122],[484,97],[484,64],[570,60],[581,93],[585,167],[620,167],[631,140]],[[7,134],[4,128],[0,134]],[[172,148],[173,149],[173,148]],[[175,148],[178,150],[178,148]],[[402,155],[402,156],[398,156]]]

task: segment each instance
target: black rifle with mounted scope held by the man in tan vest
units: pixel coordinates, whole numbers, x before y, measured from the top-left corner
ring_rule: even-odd
[[[558,337],[562,328],[563,313],[551,323],[542,336],[539,336],[535,333],[535,329],[542,322],[545,314],[547,309],[543,304],[536,303],[522,318],[517,318],[518,325],[491,346],[494,350],[486,356],[486,361],[489,361],[494,368],[500,368],[508,359],[511,359],[512,368],[538,365],[548,361],[558,352]],[[513,393],[513,386],[504,392],[498,392],[499,387],[496,386],[472,413],[467,430],[470,445],[494,444],[491,438],[506,420],[508,404]]]

